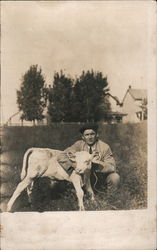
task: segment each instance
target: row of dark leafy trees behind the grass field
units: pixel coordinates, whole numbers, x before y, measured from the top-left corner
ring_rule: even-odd
[[[108,91],[102,72],[82,71],[73,79],[61,70],[47,87],[42,69],[31,65],[22,76],[17,104],[21,120],[42,120],[47,107],[51,122],[95,122],[111,110]]]

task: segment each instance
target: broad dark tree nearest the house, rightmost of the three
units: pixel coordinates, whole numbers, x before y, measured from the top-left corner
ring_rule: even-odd
[[[94,122],[103,119],[105,111],[110,110],[108,98],[105,98],[107,86],[107,77],[103,77],[101,72],[82,72],[73,89],[74,121]]]

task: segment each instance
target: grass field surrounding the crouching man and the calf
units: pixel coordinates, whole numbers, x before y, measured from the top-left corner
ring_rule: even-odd
[[[1,149],[1,210],[20,181],[24,152],[29,147],[64,150],[80,139],[79,124],[53,124],[41,127],[6,127],[2,129]],[[85,195],[86,210],[126,210],[147,207],[147,124],[112,124],[99,126],[99,137],[113,151],[121,177],[116,194],[108,196],[104,187],[95,192],[96,202]],[[75,191],[70,183],[60,182],[54,189],[47,179],[35,182],[33,206],[25,192],[15,202],[13,211],[77,210]]]

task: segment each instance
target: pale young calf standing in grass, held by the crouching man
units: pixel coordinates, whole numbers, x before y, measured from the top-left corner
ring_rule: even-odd
[[[12,197],[10,198],[7,211],[9,212],[13,203],[24,189],[27,189],[29,201],[31,202],[31,193],[35,178],[48,177],[51,180],[67,180],[72,182],[76,190],[78,198],[79,210],[84,210],[82,177],[84,174],[84,182],[87,185],[87,191],[94,200],[94,194],[90,184],[90,169],[94,155],[88,152],[68,152],[49,148],[30,148],[26,151],[23,159],[23,167],[21,172],[21,182],[18,184]],[[63,165],[63,166],[61,166]],[[72,169],[68,174],[66,169]],[[68,165],[68,168],[67,168]]]

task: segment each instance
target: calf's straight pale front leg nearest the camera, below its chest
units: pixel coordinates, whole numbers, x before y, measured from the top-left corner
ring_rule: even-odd
[[[73,171],[73,173],[70,176],[70,179],[71,179],[71,181],[72,181],[72,183],[74,185],[74,188],[76,190],[76,195],[77,195],[77,198],[78,198],[79,210],[83,211],[85,209],[84,209],[84,205],[83,205],[83,195],[84,195],[84,193],[83,193],[83,190],[81,188],[81,182],[82,182],[81,176],[78,175],[78,174],[76,174]]]

